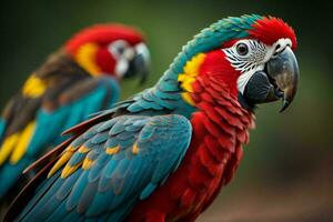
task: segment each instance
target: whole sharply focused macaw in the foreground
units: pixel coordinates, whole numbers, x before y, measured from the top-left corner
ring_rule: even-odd
[[[255,104],[292,102],[295,49],[274,17],[213,23],[153,88],[68,130],[7,220],[194,221],[233,176]]]

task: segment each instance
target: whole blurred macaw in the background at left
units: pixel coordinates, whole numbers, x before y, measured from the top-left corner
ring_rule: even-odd
[[[143,36],[123,24],[95,24],[52,53],[8,102],[0,118],[0,199],[10,201],[23,184],[21,172],[65,129],[110,108],[119,81],[147,77],[150,63]]]

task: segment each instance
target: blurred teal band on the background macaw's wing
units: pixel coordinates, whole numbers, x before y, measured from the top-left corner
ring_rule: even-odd
[[[94,90],[79,100],[60,107],[53,112],[40,110],[37,115],[37,129],[27,153],[34,157],[41,152],[41,149],[63,142],[67,137],[59,137],[61,132],[87,120],[89,114],[99,111],[104,104],[105,98],[110,94],[107,107],[111,107],[118,100],[119,91],[115,80],[103,77]]]

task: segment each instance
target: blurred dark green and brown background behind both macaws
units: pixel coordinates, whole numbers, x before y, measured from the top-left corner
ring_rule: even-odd
[[[145,32],[152,85],[193,34],[228,16],[272,14],[296,31],[301,82],[286,112],[261,105],[240,169],[199,221],[333,221],[332,3],[327,1],[2,1],[0,107],[73,32],[123,22]],[[124,82],[122,98],[141,90]]]

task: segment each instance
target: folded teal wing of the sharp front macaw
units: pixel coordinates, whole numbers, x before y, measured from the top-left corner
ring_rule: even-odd
[[[56,221],[61,218],[59,215],[65,216],[64,221],[124,218],[135,202],[147,199],[176,169],[191,133],[189,120],[176,114],[122,115],[89,129],[77,139],[85,138],[84,147],[89,152],[75,155],[77,150],[67,164],[75,157],[90,159],[90,153],[94,153],[91,167],[82,169],[81,165],[67,176],[61,175],[64,169],[61,168],[51,178],[44,178],[56,182],[40,199],[31,200],[34,203],[30,201],[33,208],[23,211],[19,220]],[[130,144],[123,143],[128,137]],[[117,152],[107,153],[110,144],[118,145]]]

